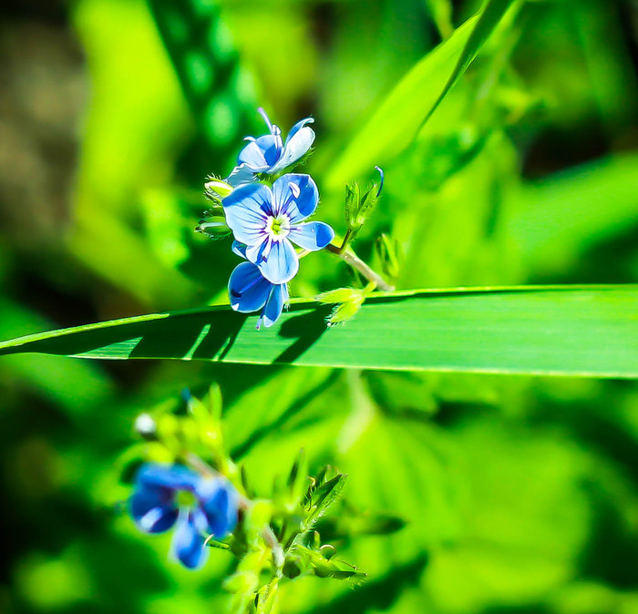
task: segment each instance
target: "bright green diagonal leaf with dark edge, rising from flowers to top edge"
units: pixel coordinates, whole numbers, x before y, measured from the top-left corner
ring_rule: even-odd
[[[385,165],[406,148],[477,56],[511,3],[488,0],[480,15],[468,19],[410,70],[334,161],[326,178],[329,188],[375,164]]]

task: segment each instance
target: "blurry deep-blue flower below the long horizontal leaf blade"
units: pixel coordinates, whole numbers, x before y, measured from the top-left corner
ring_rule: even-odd
[[[204,534],[224,537],[237,524],[238,495],[221,476],[204,477],[181,465],[141,466],[130,515],[145,533],[175,527],[171,550],[182,565],[203,565]]]

